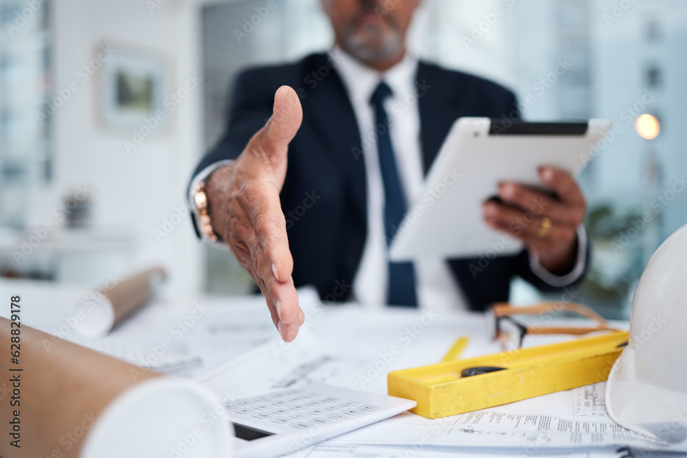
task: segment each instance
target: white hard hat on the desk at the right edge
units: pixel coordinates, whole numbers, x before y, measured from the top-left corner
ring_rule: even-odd
[[[611,369],[614,422],[664,442],[687,437],[687,225],[657,249],[635,290],[630,340]]]

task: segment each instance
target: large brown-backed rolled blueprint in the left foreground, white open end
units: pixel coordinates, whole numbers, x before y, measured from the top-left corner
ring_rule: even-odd
[[[223,405],[205,387],[55,343],[17,325],[21,306],[0,318],[1,457],[231,455]]]

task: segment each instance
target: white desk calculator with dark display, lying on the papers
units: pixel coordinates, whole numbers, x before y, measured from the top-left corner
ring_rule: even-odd
[[[278,457],[416,407],[412,400],[313,384],[233,400],[236,458]]]

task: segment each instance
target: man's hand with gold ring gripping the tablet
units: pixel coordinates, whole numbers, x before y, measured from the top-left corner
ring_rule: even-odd
[[[499,198],[503,203],[484,203],[484,220],[522,240],[546,270],[564,275],[576,262],[576,230],[585,218],[587,203],[567,172],[543,167],[539,177],[554,195],[517,183],[501,183]]]

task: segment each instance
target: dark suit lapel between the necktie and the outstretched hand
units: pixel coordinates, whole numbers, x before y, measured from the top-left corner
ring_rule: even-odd
[[[326,65],[328,56],[322,54],[315,62],[315,71]],[[322,78],[304,99],[304,109],[313,131],[322,135],[323,144],[330,146],[341,158],[339,163],[348,170],[354,211],[367,227],[365,160],[361,152],[360,131],[348,94],[335,70]]]

